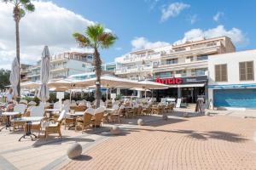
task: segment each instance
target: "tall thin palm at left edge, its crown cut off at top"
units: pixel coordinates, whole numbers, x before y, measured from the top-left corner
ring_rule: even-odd
[[[13,14],[15,19],[16,32],[16,57],[20,65],[20,20],[25,16],[26,11],[33,12],[35,10],[35,6],[31,3],[31,0],[3,0],[3,2],[14,4]],[[20,96],[20,80],[17,88],[18,94]]]

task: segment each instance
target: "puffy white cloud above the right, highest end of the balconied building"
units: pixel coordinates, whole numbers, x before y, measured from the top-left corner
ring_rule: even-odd
[[[201,30],[199,28],[192,29],[184,33],[184,37],[181,40],[175,42],[176,44],[184,43],[187,41],[196,41],[205,38],[212,37],[222,37],[227,36],[230,37],[232,42],[236,45],[244,45],[248,42],[248,39],[244,32],[242,32],[238,28],[232,28],[230,30],[226,30],[224,26],[217,26],[216,28]]]

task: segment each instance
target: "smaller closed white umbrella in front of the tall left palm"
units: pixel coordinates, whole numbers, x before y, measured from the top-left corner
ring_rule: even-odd
[[[17,89],[19,80],[20,80],[20,65],[18,63],[18,59],[15,57],[12,64],[10,77],[9,77],[9,82],[11,83],[11,87],[13,88],[14,97],[17,97],[19,95],[18,89]]]

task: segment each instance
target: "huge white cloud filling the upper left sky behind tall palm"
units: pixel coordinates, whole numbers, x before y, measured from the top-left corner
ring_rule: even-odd
[[[94,24],[52,2],[33,1],[35,12],[20,20],[20,62],[31,64],[41,58],[44,45],[50,54],[77,49],[73,31]],[[15,22],[11,4],[0,3],[0,68],[10,68],[15,57]]]

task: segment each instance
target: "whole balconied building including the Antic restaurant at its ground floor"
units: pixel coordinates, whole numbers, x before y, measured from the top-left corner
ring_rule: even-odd
[[[184,98],[189,103],[207,93],[208,55],[235,52],[229,37],[202,39],[161,48],[144,49],[115,59],[115,74],[170,85],[156,97]]]

